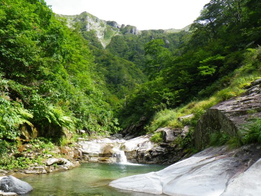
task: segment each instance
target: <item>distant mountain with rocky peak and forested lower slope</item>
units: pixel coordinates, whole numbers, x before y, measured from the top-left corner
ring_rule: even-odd
[[[145,44],[152,39],[163,39],[172,52],[182,43],[187,33],[173,30],[139,31],[135,26],[106,21],[83,12],[79,15],[58,15],[67,19],[67,26],[80,32],[88,40],[95,56],[96,71],[105,76],[109,97],[114,105],[124,100],[138,85],[147,81],[150,72],[146,63]],[[113,96],[112,96],[113,95]]]

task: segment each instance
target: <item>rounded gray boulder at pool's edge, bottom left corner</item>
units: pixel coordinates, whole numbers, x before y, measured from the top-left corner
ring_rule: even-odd
[[[0,180],[0,189],[4,190],[4,192],[26,194],[33,190],[33,187],[27,182],[21,181],[13,176],[6,176]]]

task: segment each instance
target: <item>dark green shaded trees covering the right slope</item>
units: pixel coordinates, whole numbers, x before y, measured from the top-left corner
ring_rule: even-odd
[[[169,50],[173,55],[169,55],[164,39],[149,41],[145,45],[145,66],[154,73],[150,71],[149,81],[129,95],[121,111],[123,127],[141,116],[151,119],[156,112],[206,99],[217,91],[222,94],[218,101],[238,95],[226,87],[237,75],[236,69],[252,58],[249,50],[261,44],[260,11],[259,1],[212,0],[191,25],[191,33],[182,37],[184,42],[176,50]],[[259,67],[257,57],[247,74],[260,73]],[[257,78],[254,74],[243,80],[249,83]]]

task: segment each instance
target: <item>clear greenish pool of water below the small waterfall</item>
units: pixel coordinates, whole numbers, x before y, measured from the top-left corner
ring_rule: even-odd
[[[149,196],[152,194],[124,191],[108,184],[118,178],[158,171],[165,167],[166,165],[83,163],[68,171],[16,177],[34,188],[27,196]]]

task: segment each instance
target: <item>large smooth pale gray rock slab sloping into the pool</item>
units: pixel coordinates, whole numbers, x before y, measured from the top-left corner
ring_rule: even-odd
[[[186,160],[177,162],[161,171],[121,178],[110,186],[147,192],[151,194],[218,196],[218,195],[259,195],[261,178],[258,174],[250,182],[248,194],[236,190],[242,179],[261,169],[260,146],[249,145],[238,150],[228,150],[226,146],[208,148]],[[252,163],[258,160],[253,166]],[[247,171],[245,171],[249,168]],[[245,171],[245,172],[244,172]],[[239,174],[242,174],[239,176]],[[248,184],[242,186],[246,187]],[[241,188],[241,189],[242,189]],[[250,190],[257,188],[257,190]]]

